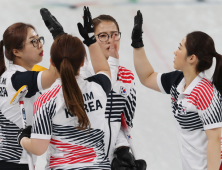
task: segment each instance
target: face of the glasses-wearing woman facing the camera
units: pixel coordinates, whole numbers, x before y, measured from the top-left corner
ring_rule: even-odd
[[[102,49],[103,54],[108,59],[109,58],[109,48],[111,44],[111,36],[112,33],[118,33],[118,29],[114,22],[112,21],[102,21],[96,28],[95,28],[95,35],[98,35],[100,33],[107,33],[109,34],[109,39],[105,42],[101,42],[96,36],[96,40],[99,43],[100,48]],[[115,41],[115,44],[117,45],[117,51],[119,51],[120,46],[120,40]]]

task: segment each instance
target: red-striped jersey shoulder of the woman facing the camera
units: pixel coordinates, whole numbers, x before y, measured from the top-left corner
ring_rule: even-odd
[[[134,81],[134,74],[131,70],[119,66],[118,67],[118,80],[122,81],[123,83],[131,83]]]

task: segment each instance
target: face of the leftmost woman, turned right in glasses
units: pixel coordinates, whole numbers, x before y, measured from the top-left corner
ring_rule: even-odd
[[[28,66],[34,66],[42,61],[43,45],[42,43],[38,43],[38,46],[34,47],[31,41],[33,39],[38,39],[39,36],[32,28],[28,28],[27,32],[26,40],[23,43],[24,47],[20,51],[20,57],[23,60],[23,63]]]

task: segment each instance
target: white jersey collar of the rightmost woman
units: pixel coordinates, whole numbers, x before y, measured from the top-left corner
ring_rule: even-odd
[[[196,87],[196,85],[202,80],[202,78],[208,79],[207,76],[204,74],[204,72],[200,72],[195,77],[195,79],[190,83],[190,85],[186,88],[185,91],[183,90],[184,90],[184,86],[186,82],[185,82],[185,78],[183,78],[181,82],[179,83],[179,85],[177,86],[177,91],[181,94],[189,95],[193,91],[194,87]]]

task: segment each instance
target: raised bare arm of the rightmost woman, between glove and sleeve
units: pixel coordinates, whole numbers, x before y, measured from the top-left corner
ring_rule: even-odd
[[[140,82],[153,90],[159,91],[157,85],[157,74],[154,72],[152,65],[146,57],[146,53],[143,47],[133,49],[134,66],[136,73],[140,79]]]

